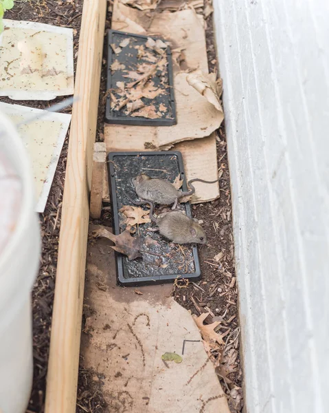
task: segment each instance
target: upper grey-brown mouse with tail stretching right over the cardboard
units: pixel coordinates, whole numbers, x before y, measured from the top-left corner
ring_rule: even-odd
[[[177,202],[186,195],[192,195],[195,188],[192,182],[205,182],[206,184],[214,184],[218,180],[205,181],[203,179],[194,178],[188,182],[191,187],[190,191],[179,191],[172,183],[161,178],[150,178],[145,173],[133,178],[133,185],[139,198],[148,200],[160,205],[172,205],[172,209],[176,209]]]

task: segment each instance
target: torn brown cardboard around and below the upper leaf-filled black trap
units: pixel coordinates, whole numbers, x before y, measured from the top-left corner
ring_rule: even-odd
[[[139,34],[157,34],[170,41],[172,50],[183,50],[185,65],[189,70],[208,72],[203,16],[192,9],[174,13],[162,12],[147,17],[144,12],[115,1],[112,28]],[[194,177],[216,180],[216,138],[210,135],[222,123],[223,111],[216,109],[207,98],[190,86],[186,76],[187,72],[181,72],[180,68],[174,65],[177,125],[105,125],[104,140],[107,151],[182,150],[187,180]],[[180,146],[173,147],[183,141],[185,145],[180,143]],[[206,164],[207,168],[201,167]],[[218,184],[198,182],[196,198],[192,202],[206,202],[218,197]]]

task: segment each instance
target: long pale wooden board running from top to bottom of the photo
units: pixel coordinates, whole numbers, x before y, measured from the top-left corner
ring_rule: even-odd
[[[58,248],[45,413],[76,412],[89,224],[89,188],[98,113],[106,0],[84,0]],[[88,171],[89,169],[89,171]]]

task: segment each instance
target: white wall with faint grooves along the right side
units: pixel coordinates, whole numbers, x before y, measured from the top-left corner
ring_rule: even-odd
[[[329,1],[214,3],[247,412],[329,412]]]

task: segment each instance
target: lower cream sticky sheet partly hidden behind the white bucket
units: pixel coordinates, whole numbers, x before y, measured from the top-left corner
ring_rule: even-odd
[[[47,112],[8,103],[0,103],[0,111],[7,114],[15,124],[38,113]],[[47,112],[40,120],[19,127],[19,134],[32,162],[36,184],[36,212],[42,213],[45,210],[70,121],[71,115]]]

